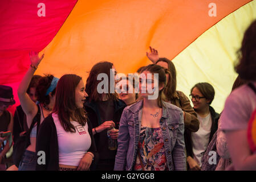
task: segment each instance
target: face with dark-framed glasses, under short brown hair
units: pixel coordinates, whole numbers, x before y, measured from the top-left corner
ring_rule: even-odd
[[[206,98],[198,98],[197,100],[196,98],[194,98],[194,97],[204,97],[203,94],[200,92],[200,90],[198,90],[196,87],[193,88],[191,95],[192,95],[192,102],[194,105],[194,109],[202,110],[202,109],[205,109],[205,107],[209,106],[210,101],[206,100]]]

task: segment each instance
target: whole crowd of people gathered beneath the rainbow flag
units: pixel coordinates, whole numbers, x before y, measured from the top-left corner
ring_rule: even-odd
[[[256,134],[247,134],[256,108],[256,21],[238,56],[238,77],[219,114],[213,86],[198,82],[189,96],[176,90],[174,64],[154,48],[147,52],[152,64],[137,77],[111,84],[117,71],[104,61],[91,68],[86,85],[74,74],[34,75],[44,55],[31,51],[14,117],[7,111],[13,89],[0,85],[0,170],[256,170],[249,144]]]

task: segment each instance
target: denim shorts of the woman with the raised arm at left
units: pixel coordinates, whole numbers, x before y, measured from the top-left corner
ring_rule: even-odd
[[[35,171],[36,154],[26,150],[23,154],[22,162],[19,163],[19,171]]]

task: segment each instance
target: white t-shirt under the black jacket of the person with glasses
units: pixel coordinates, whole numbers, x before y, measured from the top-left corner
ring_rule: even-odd
[[[197,164],[201,167],[202,155],[206,151],[209,144],[210,131],[212,127],[212,117],[209,113],[205,118],[202,118],[200,117],[200,115],[197,114],[197,118],[200,122],[199,130],[196,133],[192,132],[191,139],[194,160],[196,160]]]

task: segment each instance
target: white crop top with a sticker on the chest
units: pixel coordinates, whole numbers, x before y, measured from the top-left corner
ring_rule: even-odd
[[[68,166],[79,166],[80,160],[91,147],[91,137],[88,133],[88,124],[80,125],[76,121],[71,121],[76,132],[71,133],[63,129],[58,115],[52,113],[52,118],[57,130],[59,144],[59,164]]]

